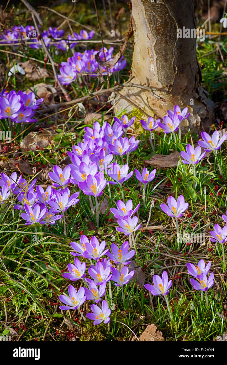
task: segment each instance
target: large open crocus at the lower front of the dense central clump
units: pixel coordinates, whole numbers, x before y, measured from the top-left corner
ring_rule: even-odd
[[[100,196],[106,184],[104,174],[99,172],[95,176],[88,175],[85,181],[78,183],[78,187],[85,195]]]

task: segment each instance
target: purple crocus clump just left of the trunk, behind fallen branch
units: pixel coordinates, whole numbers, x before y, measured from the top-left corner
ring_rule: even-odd
[[[71,82],[76,80],[77,75],[81,73],[87,73],[90,76],[98,76],[100,73],[107,75],[108,72],[120,71],[126,66],[126,59],[123,59],[122,56],[113,67],[107,69],[96,61],[95,55],[97,53],[99,53],[101,61],[109,61],[112,59],[113,47],[110,47],[109,50],[104,47],[100,51],[92,49],[86,50],[84,53],[75,52],[72,57],[67,59],[67,62],[61,63],[62,67],[58,76],[61,84],[71,84]]]

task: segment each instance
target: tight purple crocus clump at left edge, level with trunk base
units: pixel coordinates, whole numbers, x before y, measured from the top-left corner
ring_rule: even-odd
[[[26,93],[25,91],[11,90],[10,92],[3,89],[0,92],[0,119],[11,119],[12,122],[36,122],[32,119],[35,110],[39,108],[43,98],[36,100],[34,92]]]

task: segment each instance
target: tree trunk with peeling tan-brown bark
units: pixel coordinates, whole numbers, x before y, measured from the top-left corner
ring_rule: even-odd
[[[138,88],[124,88],[120,93],[157,118],[167,115],[175,104],[188,107],[191,115],[182,127],[189,126],[198,132],[200,126],[207,131],[214,122],[213,103],[200,84],[196,38],[177,37],[177,29],[196,29],[193,0],[131,0],[131,9],[131,70],[135,76],[131,82],[158,88],[155,93],[166,103]],[[116,101],[115,110],[133,108],[124,99]]]

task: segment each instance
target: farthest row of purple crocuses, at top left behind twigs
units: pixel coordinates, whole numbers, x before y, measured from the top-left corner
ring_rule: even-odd
[[[41,33],[43,41],[46,46],[55,46],[57,49],[67,50],[75,47],[77,44],[76,41],[88,40],[94,37],[95,32],[92,30],[89,33],[86,30],[81,30],[80,34],[73,33],[72,35],[68,35],[64,40],[62,36],[64,35],[64,30],[59,30],[58,28],[49,27],[48,30],[45,30]],[[41,41],[37,39],[37,34],[34,26],[27,25],[26,27],[14,26],[11,30],[6,30],[3,34],[1,34],[0,44],[8,44],[14,47],[17,47],[17,43],[21,41],[28,41],[29,47],[38,49],[42,48]],[[54,42],[54,40],[56,42]],[[32,42],[32,43],[30,43]]]

